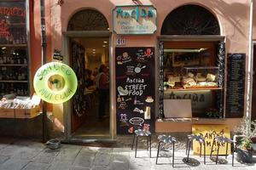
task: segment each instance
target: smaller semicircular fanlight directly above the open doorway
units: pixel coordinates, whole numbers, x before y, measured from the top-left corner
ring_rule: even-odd
[[[100,12],[84,9],[69,20],[67,31],[108,31],[108,20]]]

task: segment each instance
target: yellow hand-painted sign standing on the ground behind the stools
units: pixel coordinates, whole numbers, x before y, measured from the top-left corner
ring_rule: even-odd
[[[227,125],[192,125],[192,133],[201,135],[206,140],[206,154],[211,154],[211,149],[213,145],[213,152],[212,155],[217,154],[217,149],[219,145],[218,155],[225,155],[226,154],[226,144],[224,143],[213,143],[213,139],[216,136],[224,136],[230,138],[230,127]],[[202,152],[204,153],[204,147],[201,147]],[[200,154],[200,143],[193,142],[193,151],[195,155]],[[228,147],[228,155],[230,154],[230,144]]]

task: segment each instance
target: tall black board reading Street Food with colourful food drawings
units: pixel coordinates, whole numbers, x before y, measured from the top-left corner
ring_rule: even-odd
[[[154,48],[115,48],[117,133],[154,132]]]

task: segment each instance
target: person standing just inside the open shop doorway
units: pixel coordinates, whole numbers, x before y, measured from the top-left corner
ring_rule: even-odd
[[[106,65],[101,65],[99,69],[99,74],[96,76],[96,88],[99,93],[99,119],[106,116],[106,103],[108,101],[109,92],[109,79],[108,79],[108,67]]]

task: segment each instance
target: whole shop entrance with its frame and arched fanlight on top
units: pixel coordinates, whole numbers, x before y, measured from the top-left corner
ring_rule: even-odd
[[[73,14],[63,33],[64,62],[78,78],[73,98],[63,105],[65,137],[70,142],[113,139],[111,32],[108,20],[95,9]],[[104,84],[104,85],[102,85]],[[104,90],[102,90],[104,89]],[[102,93],[104,91],[104,93]]]

